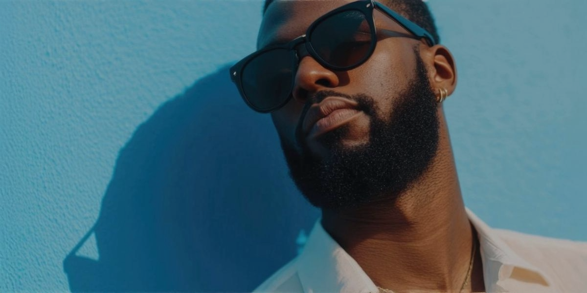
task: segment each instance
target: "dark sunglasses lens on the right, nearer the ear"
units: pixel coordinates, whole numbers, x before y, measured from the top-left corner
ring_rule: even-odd
[[[374,39],[363,12],[343,11],[318,23],[309,37],[315,52],[326,63],[352,67],[365,62]]]

